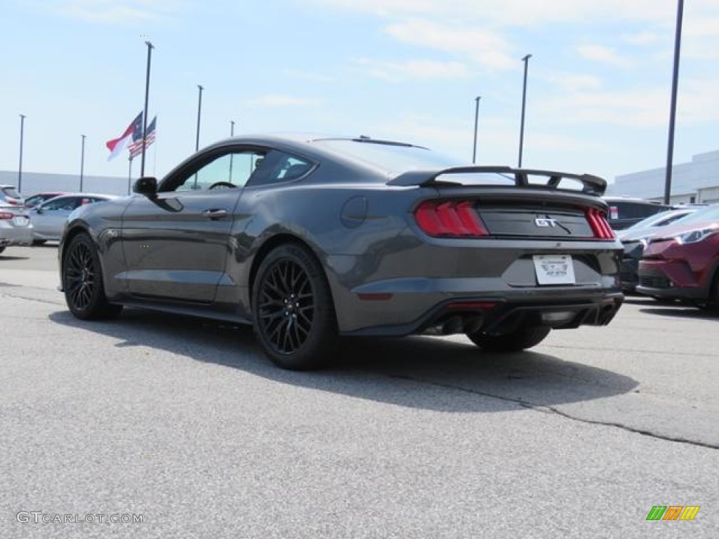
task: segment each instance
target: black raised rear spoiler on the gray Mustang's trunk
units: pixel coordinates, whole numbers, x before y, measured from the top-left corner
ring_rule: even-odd
[[[437,180],[438,176],[444,174],[467,174],[468,172],[494,173],[505,175],[508,180],[514,180],[514,185],[521,188],[553,188],[557,189],[559,182],[564,178],[578,180],[584,185],[582,193],[601,196],[607,188],[607,182],[599,176],[590,174],[569,174],[568,172],[555,172],[552,170],[530,170],[526,168],[512,167],[451,167],[444,170],[411,170],[398,175],[388,181],[387,185],[399,185],[403,187],[429,187],[431,185],[462,185],[451,180]],[[529,183],[529,176],[546,176],[546,183]],[[576,189],[572,189],[576,191]]]

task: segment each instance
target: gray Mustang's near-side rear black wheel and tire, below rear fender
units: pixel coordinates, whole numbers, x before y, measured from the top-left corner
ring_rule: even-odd
[[[252,318],[265,354],[283,369],[318,369],[336,355],[331,292],[306,247],[283,244],[262,260],[252,287]]]

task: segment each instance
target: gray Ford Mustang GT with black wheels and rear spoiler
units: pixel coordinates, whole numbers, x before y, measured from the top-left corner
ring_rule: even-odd
[[[605,187],[364,136],[233,137],[73,213],[60,288],[83,320],[129,305],[252,324],[286,369],[328,364],[343,336],[519,351],[620,308]]]

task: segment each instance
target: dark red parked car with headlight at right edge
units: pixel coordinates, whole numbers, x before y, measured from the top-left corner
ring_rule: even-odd
[[[719,204],[649,240],[639,262],[636,290],[702,308],[719,306]]]

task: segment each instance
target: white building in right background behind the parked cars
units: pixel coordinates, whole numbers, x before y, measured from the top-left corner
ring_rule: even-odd
[[[655,168],[617,176],[608,186],[607,194],[662,201],[664,171],[664,168]],[[672,167],[670,201],[674,204],[719,202],[719,150],[697,154],[691,162]]]

